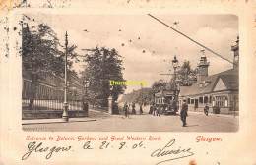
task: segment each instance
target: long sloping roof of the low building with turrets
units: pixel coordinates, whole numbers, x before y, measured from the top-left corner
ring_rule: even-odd
[[[200,95],[213,92],[218,81],[222,79],[227,90],[238,89],[238,70],[230,69],[211,75],[202,82],[193,83],[191,86],[180,86],[180,96]]]

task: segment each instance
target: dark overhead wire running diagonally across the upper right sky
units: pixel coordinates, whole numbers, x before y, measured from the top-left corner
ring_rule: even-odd
[[[216,56],[222,58],[223,60],[225,60],[225,61],[227,61],[227,62],[229,62],[229,63],[231,63],[231,64],[233,64],[233,65],[235,65],[232,61],[230,61],[230,60],[224,58],[221,54],[215,52],[213,49],[208,48],[207,46],[204,46],[202,43],[199,43],[198,41],[192,39],[191,37],[189,37],[188,35],[184,34],[183,32],[181,32],[181,31],[179,31],[179,30],[177,30],[177,29],[175,29],[175,28],[173,28],[173,27],[170,27],[169,25],[167,25],[166,23],[162,22],[162,21],[161,21],[160,19],[158,19],[157,17],[155,17],[155,16],[153,16],[153,15],[151,15],[151,14],[148,14],[148,15],[149,15],[150,17],[152,17],[153,19],[157,20],[158,22],[160,22],[160,24],[164,25],[165,27],[171,28],[172,30],[174,30],[175,32],[177,32],[177,33],[181,34],[182,36],[186,37],[186,38],[189,39],[190,41],[192,41],[192,42],[196,43],[197,45],[203,47],[204,49],[210,51],[210,52],[213,53],[214,55],[216,55]]]

